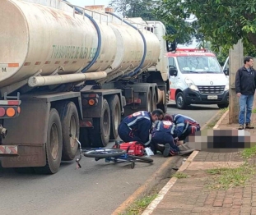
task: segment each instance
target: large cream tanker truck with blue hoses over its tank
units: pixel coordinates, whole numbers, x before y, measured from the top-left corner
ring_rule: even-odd
[[[70,135],[105,147],[122,117],[166,112],[160,21],[61,0],[2,0],[0,11],[2,167],[54,174],[76,156]]]

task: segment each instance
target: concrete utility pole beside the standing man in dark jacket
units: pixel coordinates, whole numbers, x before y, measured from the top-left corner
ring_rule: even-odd
[[[235,94],[235,74],[244,64],[244,48],[241,39],[229,53],[230,97],[229,97],[229,124],[238,123],[239,98]]]

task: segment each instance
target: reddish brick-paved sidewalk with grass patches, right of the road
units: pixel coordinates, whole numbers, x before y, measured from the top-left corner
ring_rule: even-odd
[[[254,108],[256,99],[254,98]],[[256,126],[256,114],[252,113],[252,124]],[[228,125],[228,112],[221,117],[214,129],[238,129],[238,124]],[[248,130],[256,135],[256,129]],[[251,159],[256,163],[256,158]],[[142,215],[149,214],[255,214],[256,176],[245,186],[228,190],[213,190],[207,186],[212,175],[206,170],[218,167],[239,167],[244,163],[240,153],[207,153],[194,151],[179,167],[186,178],[172,177],[158,197],[146,208]]]

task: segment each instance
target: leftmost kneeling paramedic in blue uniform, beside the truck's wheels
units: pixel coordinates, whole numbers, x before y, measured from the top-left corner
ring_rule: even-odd
[[[161,109],[156,109],[153,112],[134,112],[121,121],[118,130],[119,137],[126,143],[137,141],[147,146],[152,123],[162,120],[163,117],[164,112]]]

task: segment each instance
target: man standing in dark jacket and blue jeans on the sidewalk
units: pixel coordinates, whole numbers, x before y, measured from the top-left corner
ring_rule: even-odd
[[[254,103],[254,93],[256,89],[256,72],[254,71],[253,57],[244,58],[244,66],[241,67],[235,75],[235,93],[240,98],[240,113],[239,113],[239,130],[245,128],[253,129],[251,126],[251,113]],[[246,109],[246,117],[244,121],[244,113]]]

